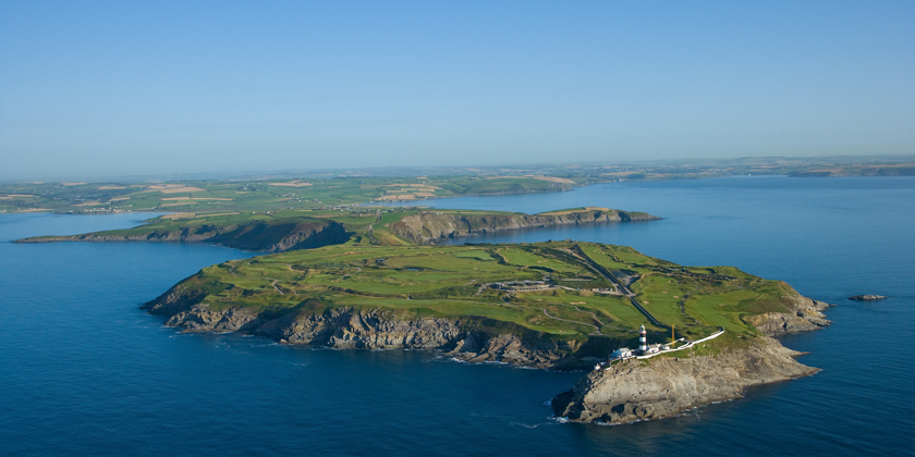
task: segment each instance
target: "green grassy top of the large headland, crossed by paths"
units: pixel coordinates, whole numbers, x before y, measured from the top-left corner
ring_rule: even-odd
[[[577,246],[611,270],[638,272],[636,298],[661,326],[629,300],[602,294]],[[627,261],[621,261],[629,259]],[[722,274],[728,273],[728,274]],[[541,281],[547,289],[498,289],[495,283]],[[725,328],[756,331],[742,316],[782,311],[796,293],[733,268],[682,268],[632,248],[574,242],[520,245],[381,246],[347,243],[220,263],[175,286],[211,309],[252,307],[271,313],[322,312],[340,307],[502,322],[544,335],[633,342],[639,325],[661,339],[698,338]],[[601,287],[602,288],[602,287]]]

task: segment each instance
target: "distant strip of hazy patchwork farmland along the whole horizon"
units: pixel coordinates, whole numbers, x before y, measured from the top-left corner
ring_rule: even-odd
[[[619,180],[733,175],[911,176],[912,157],[744,158],[693,163],[524,164],[426,171],[340,170],[236,180],[0,183],[0,212],[170,211],[215,214],[320,209],[371,201],[565,190]]]

